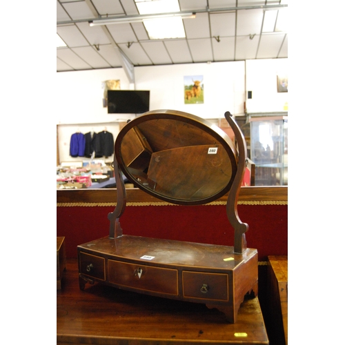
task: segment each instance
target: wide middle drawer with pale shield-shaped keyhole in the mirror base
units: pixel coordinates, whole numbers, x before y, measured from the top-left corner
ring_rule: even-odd
[[[178,295],[177,270],[108,260],[109,282],[139,290]]]

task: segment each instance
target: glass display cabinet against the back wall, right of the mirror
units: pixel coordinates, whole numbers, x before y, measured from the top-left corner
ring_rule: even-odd
[[[288,117],[251,117],[249,123],[255,186],[287,186]]]

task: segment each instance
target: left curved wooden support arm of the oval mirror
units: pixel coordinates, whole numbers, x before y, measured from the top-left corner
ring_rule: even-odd
[[[117,160],[114,157],[113,168],[115,173],[115,181],[117,188],[117,202],[115,210],[112,213],[108,213],[108,219],[110,220],[109,237],[116,238],[122,235],[122,229],[119,222],[119,217],[124,213],[126,207],[126,188],[124,179],[122,178],[121,170],[117,164]]]

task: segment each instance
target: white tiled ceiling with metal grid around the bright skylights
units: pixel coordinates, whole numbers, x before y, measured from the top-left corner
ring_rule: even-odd
[[[150,40],[143,23],[89,26],[107,15],[139,14],[134,0],[57,0],[57,33],[67,44],[57,48],[57,71],[288,57],[287,32],[274,32],[287,0],[179,0],[179,6],[196,13],[184,19],[186,39]]]

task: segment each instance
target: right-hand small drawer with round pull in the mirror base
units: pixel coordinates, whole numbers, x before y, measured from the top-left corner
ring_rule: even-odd
[[[228,275],[184,270],[182,272],[184,297],[228,301]]]

